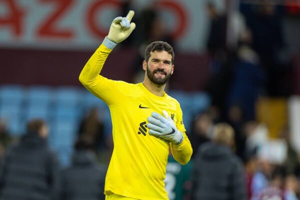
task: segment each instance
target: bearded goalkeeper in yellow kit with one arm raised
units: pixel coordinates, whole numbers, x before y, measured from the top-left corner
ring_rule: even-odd
[[[185,165],[192,154],[179,103],[164,92],[174,70],[172,47],[149,44],[144,81],[130,84],[99,75],[111,50],[135,28],[134,11],[116,17],[108,35],[82,69],[79,81],[109,107],[114,149],[106,174],[106,200],[167,200],[163,180],[169,149]]]

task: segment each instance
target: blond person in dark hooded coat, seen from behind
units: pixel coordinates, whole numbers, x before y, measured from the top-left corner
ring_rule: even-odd
[[[219,123],[212,142],[199,147],[192,172],[193,200],[246,200],[243,167],[231,150],[233,141],[232,127]]]

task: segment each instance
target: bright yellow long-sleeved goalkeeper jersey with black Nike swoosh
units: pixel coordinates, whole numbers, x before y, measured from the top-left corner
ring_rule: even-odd
[[[164,93],[148,91],[142,83],[130,84],[99,75],[111,49],[103,44],[94,52],[80,73],[88,91],[109,107],[112,121],[113,152],[105,178],[104,194],[117,194],[138,200],[168,200],[164,178],[169,149],[176,161],[186,164],[192,149],[182,123],[179,103]],[[146,128],[152,112],[166,110],[184,140],[172,145],[150,136]]]

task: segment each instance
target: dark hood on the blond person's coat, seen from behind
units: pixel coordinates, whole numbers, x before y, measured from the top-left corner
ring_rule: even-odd
[[[209,142],[199,148],[199,153],[204,160],[221,160],[228,159],[232,155],[232,150],[225,145]]]

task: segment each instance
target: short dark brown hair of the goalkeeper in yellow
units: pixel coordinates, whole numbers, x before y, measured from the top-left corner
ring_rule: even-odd
[[[172,64],[174,63],[174,50],[171,45],[169,45],[167,42],[163,41],[154,41],[150,43],[145,50],[145,61],[148,62],[150,58],[150,53],[154,51],[166,51],[172,56]]]

